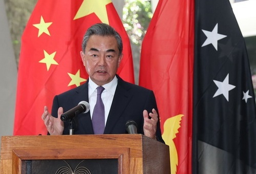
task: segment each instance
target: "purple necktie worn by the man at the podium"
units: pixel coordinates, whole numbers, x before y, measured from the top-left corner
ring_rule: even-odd
[[[102,86],[97,87],[97,101],[92,113],[92,127],[94,134],[103,134],[105,129],[105,108],[102,101]]]

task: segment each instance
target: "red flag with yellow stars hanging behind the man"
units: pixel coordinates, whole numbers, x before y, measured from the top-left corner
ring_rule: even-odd
[[[86,81],[81,44],[96,23],[120,33],[124,56],[117,74],[134,83],[130,41],[110,0],[39,0],[22,36],[14,135],[45,135],[44,106],[51,111],[55,95]]]

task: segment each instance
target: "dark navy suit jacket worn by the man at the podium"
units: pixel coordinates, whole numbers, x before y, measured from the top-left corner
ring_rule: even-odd
[[[119,76],[117,76],[117,79],[117,87],[104,134],[127,134],[125,124],[128,120],[134,120],[137,123],[137,133],[144,134],[143,110],[152,112],[152,108],[155,108],[157,111],[154,94],[148,89],[124,81]],[[56,95],[53,99],[52,115],[57,117],[58,107],[63,107],[64,112],[66,112],[75,107],[80,101],[88,102],[88,81],[75,89]],[[69,134],[69,121],[64,123],[63,134]],[[94,134],[90,111],[75,116],[73,134]],[[157,123],[156,138],[164,143],[161,136],[160,122]]]

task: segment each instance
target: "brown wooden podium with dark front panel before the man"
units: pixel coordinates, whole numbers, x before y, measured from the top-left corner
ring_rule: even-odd
[[[36,163],[38,160],[41,161]],[[51,161],[47,166],[56,166],[55,161],[64,161],[72,168],[65,160],[92,160],[90,163],[96,163],[96,168],[99,168],[101,162],[106,163],[107,169],[101,169],[105,170],[103,173],[108,173],[106,171],[113,168],[119,174],[170,173],[169,146],[141,134],[2,137],[2,174],[34,173],[30,172],[28,166],[32,164],[36,168],[34,165],[43,165],[47,161]],[[90,166],[77,168],[88,170],[84,173],[101,173],[91,172]]]

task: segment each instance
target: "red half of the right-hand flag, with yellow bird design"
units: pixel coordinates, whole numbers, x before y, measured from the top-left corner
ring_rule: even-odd
[[[154,91],[171,173],[191,173],[194,2],[160,0],[145,35],[139,84]]]

